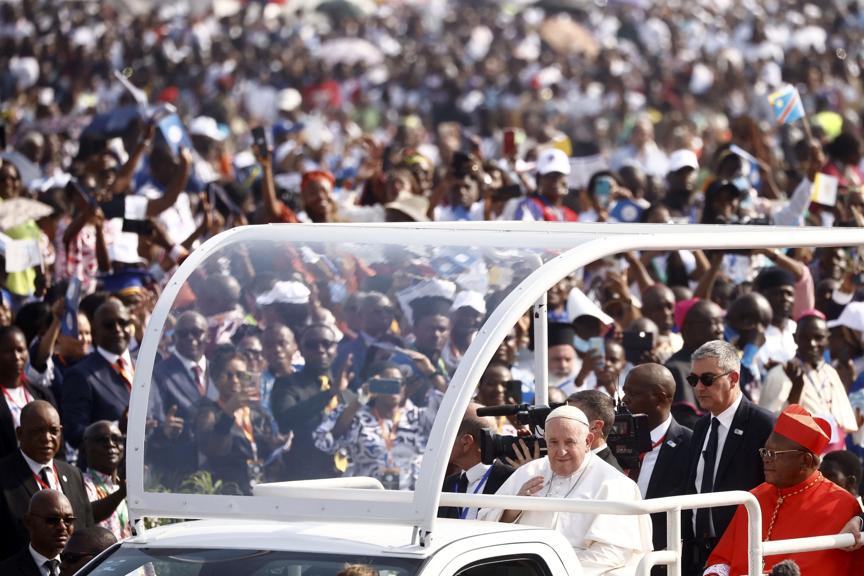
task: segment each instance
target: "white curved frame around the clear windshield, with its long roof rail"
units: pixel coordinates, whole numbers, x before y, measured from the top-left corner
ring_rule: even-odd
[[[144,491],[144,427],[150,375],[162,328],[183,282],[207,256],[241,241],[295,241],[364,244],[424,244],[497,249],[566,250],[535,269],[501,302],[473,340],[455,371],[448,394],[429,434],[415,491],[295,486],[285,496],[210,496]],[[774,226],[625,225],[551,223],[459,223],[429,225],[256,225],[235,228],[209,239],[175,272],[156,304],[143,338],[132,386],[127,440],[127,489],[130,516],[174,518],[327,519],[396,522],[435,529],[449,448],[480,376],[517,320],[546,292],[574,270],[627,250],[746,249],[864,245],[861,228]],[[538,390],[538,402],[545,390]],[[542,394],[542,396],[541,396]],[[260,486],[264,489],[264,485]],[[260,491],[263,492],[263,491]],[[259,493],[256,490],[256,494]],[[290,497],[287,495],[290,494]],[[753,518],[751,518],[753,520]]]

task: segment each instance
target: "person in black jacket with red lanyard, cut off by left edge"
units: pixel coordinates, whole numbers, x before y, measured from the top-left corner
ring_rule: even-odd
[[[35,386],[22,378],[27,367],[27,358],[27,342],[21,328],[0,328],[0,385],[3,386],[3,398],[0,398],[0,458],[5,458],[18,449],[16,420],[12,417],[10,406],[20,410],[26,402],[44,400],[57,408],[51,390]],[[21,390],[24,392],[24,400],[19,404],[16,392]]]

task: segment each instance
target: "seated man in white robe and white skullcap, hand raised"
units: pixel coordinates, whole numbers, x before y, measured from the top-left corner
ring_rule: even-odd
[[[548,455],[520,467],[496,494],[588,500],[641,500],[638,486],[591,453],[593,434],[579,408],[562,406],[546,419]],[[482,509],[478,520],[555,529],[570,541],[586,576],[636,566],[651,551],[649,516]]]

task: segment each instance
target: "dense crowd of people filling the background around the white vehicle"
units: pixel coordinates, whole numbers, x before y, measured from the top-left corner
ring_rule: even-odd
[[[109,540],[90,527],[131,534],[124,450],[143,335],[177,265],[221,231],[864,226],[858,3],[442,5],[378,3],[368,15],[276,3],[140,15],[112,3],[0,6],[0,522],[10,535],[0,560],[29,549],[54,575],[64,545]],[[768,96],[786,85],[807,115],[778,124]],[[194,271],[161,326],[148,490],[248,495],[261,482],[340,475],[413,490],[475,334],[529,260],[558,252],[364,241],[233,244]],[[548,294],[550,401],[578,410],[558,416],[556,434],[588,426],[578,440],[598,459],[587,466],[611,466],[602,475],[615,472],[632,497],[662,497],[772,483],[763,460],[779,462],[788,444],[773,431],[805,446],[803,470],[860,506],[860,250],[643,250],[575,271]],[[531,402],[532,349],[526,312],[475,402]],[[635,470],[606,446],[614,396],[650,417],[655,450]],[[825,446],[775,428],[790,407],[828,423]],[[469,410],[445,490],[518,493],[507,478],[536,455],[482,465],[482,427],[527,432]],[[572,480],[582,463],[519,474]],[[711,555],[733,516],[721,507],[685,522],[689,573],[709,557],[738,569]],[[77,544],[65,540],[73,526]],[[625,565],[651,548],[644,529],[622,529],[626,545],[605,541],[583,564]],[[655,526],[653,548],[664,533]]]

